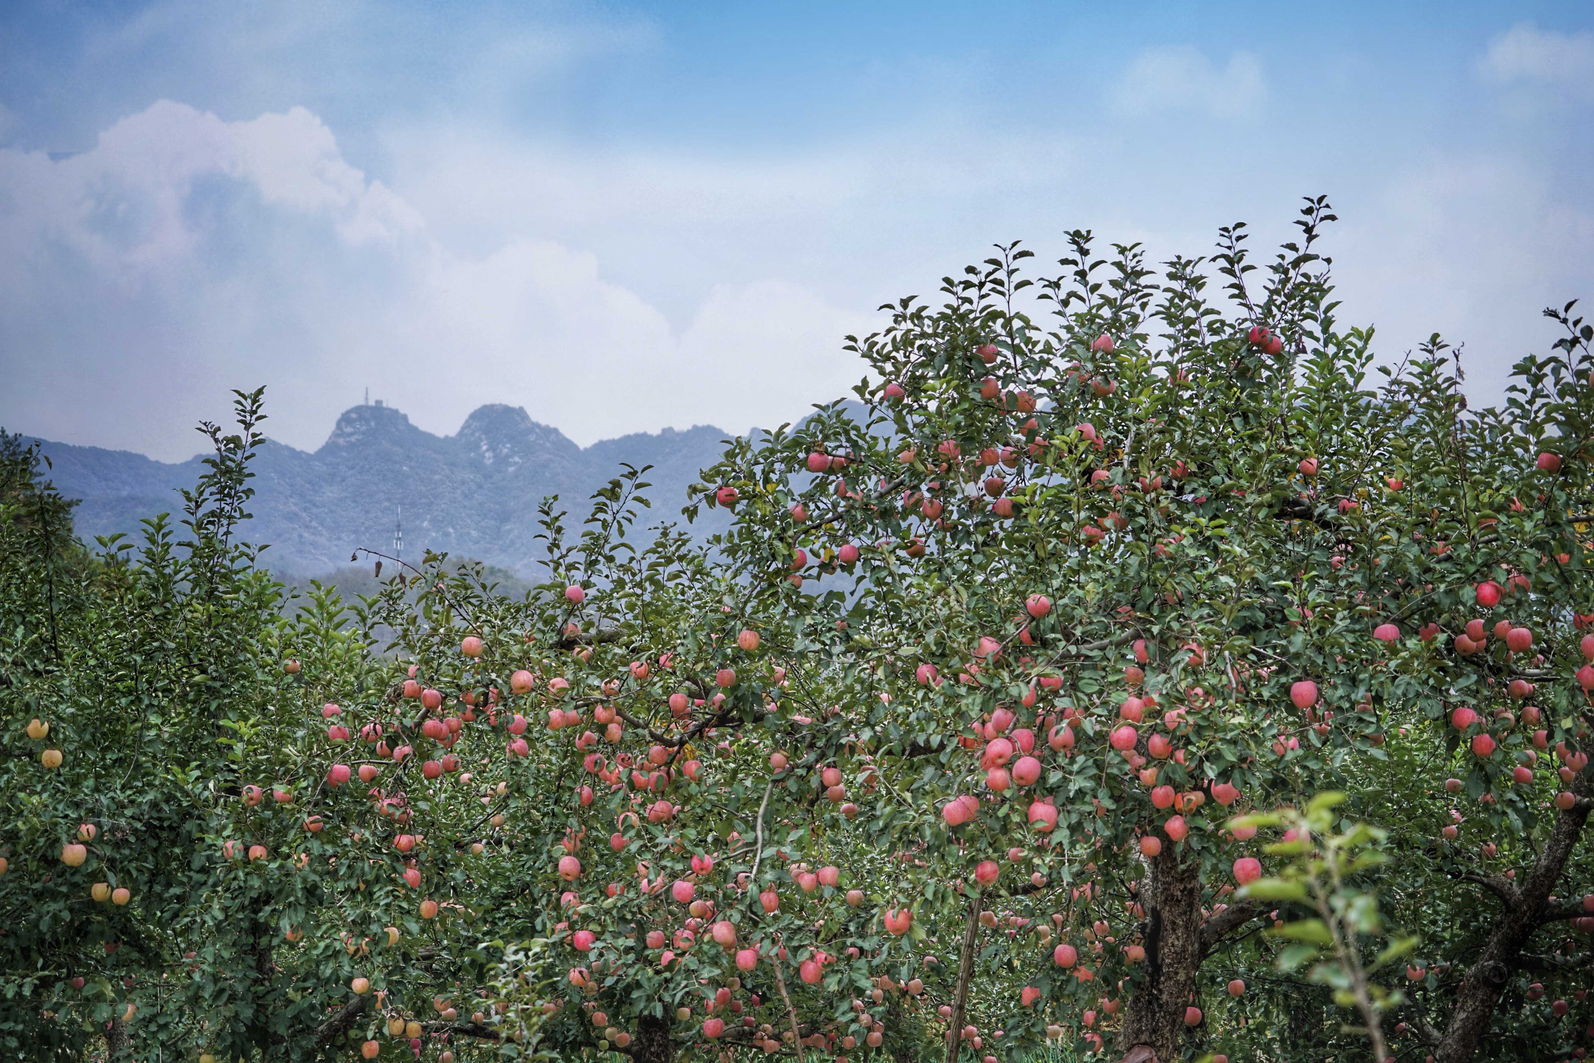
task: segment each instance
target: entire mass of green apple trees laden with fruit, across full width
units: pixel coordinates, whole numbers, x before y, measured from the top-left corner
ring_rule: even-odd
[[[706,550],[625,469],[521,598],[362,551],[381,594],[285,601],[258,392],[142,543],[6,438],[0,1044],[1586,1049],[1594,330],[1471,411],[1341,325],[1331,220],[999,247],[728,445]]]

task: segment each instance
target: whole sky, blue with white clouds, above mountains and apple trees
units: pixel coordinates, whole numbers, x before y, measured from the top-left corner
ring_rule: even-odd
[[[0,424],[182,457],[230,387],[582,443],[842,394],[1023,239],[1205,253],[1328,193],[1344,314],[1470,386],[1594,295],[1588,3],[13,2]]]

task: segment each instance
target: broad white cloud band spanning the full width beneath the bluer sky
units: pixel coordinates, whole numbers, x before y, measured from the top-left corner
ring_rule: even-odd
[[[717,153],[416,123],[381,148],[389,185],[308,110],[179,104],[67,159],[0,148],[0,424],[182,457],[228,389],[266,382],[268,429],[306,448],[367,386],[432,432],[486,402],[582,443],[771,426],[856,384],[840,338],[878,328],[875,306],[934,300],[995,239],[1027,241],[1031,277],[1076,226],[1162,261],[1247,218],[1266,255],[1294,236],[1296,182],[1345,218],[1326,241],[1342,319],[1377,324],[1385,355],[1465,339],[1478,405],[1548,347],[1540,308],[1594,277],[1589,210],[1521,145],[1352,158],[1302,139],[1283,175],[976,121]]]

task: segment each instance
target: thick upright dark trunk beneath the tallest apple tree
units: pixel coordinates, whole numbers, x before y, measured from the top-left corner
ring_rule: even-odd
[[[1124,1009],[1119,1047],[1125,1055],[1138,1045],[1156,1052],[1159,1063],[1178,1060],[1184,1033],[1184,1009],[1200,967],[1200,877],[1196,862],[1181,864],[1178,846],[1165,846],[1151,861],[1141,888],[1146,910],[1146,980]]]

